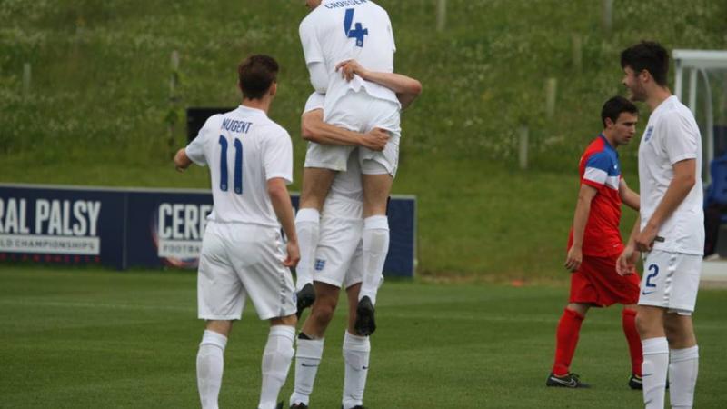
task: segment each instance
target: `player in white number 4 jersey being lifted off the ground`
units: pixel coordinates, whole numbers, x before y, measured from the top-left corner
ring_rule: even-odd
[[[364,284],[359,294],[357,331],[371,334],[376,292],[383,282],[383,263],[389,249],[386,203],[396,175],[401,135],[396,93],[363,75],[346,78],[336,68],[355,59],[374,72],[393,72],[393,29],[389,15],[370,0],[306,0],[312,11],[300,25],[305,63],[311,83],[325,94],[324,121],[367,133],[382,128],[391,135],[383,151],[359,148],[364,174]],[[356,73],[357,74],[357,73]],[[320,211],[334,179],[346,170],[351,146],[310,144],[305,155],[301,205],[295,224],[301,237],[297,269],[298,311],[312,304],[313,254],[318,240]]]

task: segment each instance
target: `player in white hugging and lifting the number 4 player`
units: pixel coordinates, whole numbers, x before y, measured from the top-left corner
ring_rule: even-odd
[[[392,87],[405,107],[421,92],[422,85],[409,77],[387,73],[367,73],[355,61],[346,62],[341,71],[347,77],[354,72],[376,78],[382,85]],[[309,141],[324,145],[361,145],[374,141],[379,149],[384,137],[362,135],[334,125],[325,124],[324,95],[314,93],[305,105],[303,135]],[[374,130],[375,133],[376,130]],[[371,143],[371,142],[370,142]],[[315,251],[314,287],[316,299],[311,315],[298,334],[295,359],[295,385],[291,408],[308,407],[315,375],[324,350],[324,335],[334,315],[340,289],[343,286],[349,301],[348,329],[344,334],[344,394],[342,407],[363,408],[364,388],[369,368],[371,344],[368,336],[357,334],[354,328],[358,294],[363,279],[362,231],[364,192],[358,156],[349,156],[347,169],[335,175],[323,207],[320,240]]]

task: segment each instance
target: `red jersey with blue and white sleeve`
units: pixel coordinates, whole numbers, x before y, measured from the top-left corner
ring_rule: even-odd
[[[621,165],[616,149],[603,134],[598,135],[583,152],[579,174],[581,184],[598,190],[591,201],[591,212],[583,232],[583,254],[597,257],[621,254]],[[568,248],[572,244],[573,227],[568,238]]]

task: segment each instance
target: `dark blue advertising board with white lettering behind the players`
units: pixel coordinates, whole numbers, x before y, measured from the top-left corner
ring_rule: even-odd
[[[206,190],[0,184],[0,262],[196,268],[211,211]],[[393,196],[388,215],[384,273],[412,277],[416,199]]]

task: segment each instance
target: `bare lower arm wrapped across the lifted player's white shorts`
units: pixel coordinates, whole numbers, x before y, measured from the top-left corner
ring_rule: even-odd
[[[389,141],[389,133],[374,128],[368,134],[349,131],[324,122],[323,109],[306,112],[301,120],[301,135],[306,141],[322,145],[364,146],[373,151],[383,151]]]

